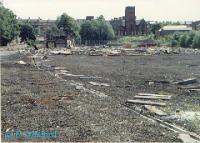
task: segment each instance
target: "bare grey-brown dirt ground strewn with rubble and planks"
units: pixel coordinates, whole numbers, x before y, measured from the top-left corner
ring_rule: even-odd
[[[162,110],[170,115],[200,112],[198,91],[189,92],[175,84],[161,81],[200,78],[199,55],[155,56],[62,56],[37,59],[37,66],[16,54],[1,64],[1,131],[55,130],[55,139],[39,141],[137,141],[180,142],[178,134],[159,123],[145,119],[127,108],[125,102],[140,92],[173,95]],[[102,77],[80,79],[66,75],[57,78],[54,67],[65,67],[75,75]],[[89,82],[108,83],[95,87]],[[153,84],[149,84],[152,83]],[[88,90],[98,91],[93,94]],[[199,85],[199,84],[197,84]],[[197,86],[195,85],[195,86]],[[194,86],[194,85],[193,85]],[[100,92],[104,96],[100,96]],[[140,109],[140,106],[136,106]],[[146,114],[146,113],[144,113]],[[189,131],[200,132],[200,120],[175,119],[168,122]],[[19,138],[4,141],[38,141]]]

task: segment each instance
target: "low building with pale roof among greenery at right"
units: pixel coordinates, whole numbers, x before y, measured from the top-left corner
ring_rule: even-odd
[[[192,31],[192,27],[186,25],[168,25],[159,30],[159,35],[168,35],[175,32],[189,32]]]

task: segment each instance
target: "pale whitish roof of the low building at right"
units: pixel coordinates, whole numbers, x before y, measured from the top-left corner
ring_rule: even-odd
[[[186,25],[168,25],[160,29],[165,31],[191,31],[192,27],[187,27]]]

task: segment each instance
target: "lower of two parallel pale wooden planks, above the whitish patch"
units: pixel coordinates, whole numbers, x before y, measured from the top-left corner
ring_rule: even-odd
[[[127,103],[141,104],[141,105],[166,106],[166,103],[163,103],[163,102],[152,102],[152,101],[143,101],[143,100],[127,100]]]

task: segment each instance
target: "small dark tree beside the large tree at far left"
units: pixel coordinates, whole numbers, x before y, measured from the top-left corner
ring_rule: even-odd
[[[32,45],[36,40],[34,29],[29,24],[23,24],[20,27],[20,38],[21,42],[26,42],[29,45]]]

